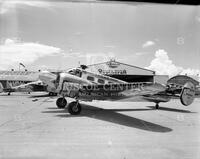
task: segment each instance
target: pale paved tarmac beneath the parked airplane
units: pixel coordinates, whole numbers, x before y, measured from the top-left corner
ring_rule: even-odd
[[[57,97],[37,95],[0,95],[0,158],[200,158],[200,99],[160,110],[147,102],[83,102],[72,116],[56,108]]]

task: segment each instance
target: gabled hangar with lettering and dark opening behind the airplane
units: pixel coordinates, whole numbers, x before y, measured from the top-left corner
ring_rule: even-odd
[[[155,82],[155,80],[161,79],[156,77],[155,71],[121,63],[113,59],[107,62],[87,65],[86,70],[108,75],[126,82]],[[168,76],[165,76],[162,80],[166,82],[167,79]]]

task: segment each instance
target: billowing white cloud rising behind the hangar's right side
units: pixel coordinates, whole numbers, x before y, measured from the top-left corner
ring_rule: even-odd
[[[155,53],[155,58],[151,61],[150,66],[146,67],[156,71],[157,75],[169,75],[170,77],[177,74],[189,75],[189,76],[198,76],[200,80],[200,70],[176,66],[170,60],[168,53],[165,50],[157,50]]]

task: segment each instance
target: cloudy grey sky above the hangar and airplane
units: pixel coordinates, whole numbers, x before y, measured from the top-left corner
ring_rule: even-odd
[[[110,59],[200,74],[200,6],[1,1],[0,69],[68,69]]]

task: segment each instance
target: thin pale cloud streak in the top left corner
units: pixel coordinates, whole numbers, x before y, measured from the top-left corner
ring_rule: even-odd
[[[49,8],[51,4],[45,1],[29,1],[29,0],[3,0],[1,2],[0,14],[5,14],[16,8],[16,5],[26,5],[30,7]]]

